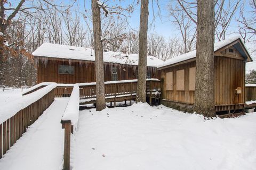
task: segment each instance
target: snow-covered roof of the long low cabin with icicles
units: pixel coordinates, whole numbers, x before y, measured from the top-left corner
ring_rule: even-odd
[[[34,56],[62,58],[71,60],[95,61],[94,50],[91,48],[75,47],[51,43],[43,43],[38,47]],[[124,54],[121,52],[103,52],[103,61],[108,63],[138,65],[138,54]],[[154,56],[148,56],[147,66],[156,67],[162,64],[163,61]]]

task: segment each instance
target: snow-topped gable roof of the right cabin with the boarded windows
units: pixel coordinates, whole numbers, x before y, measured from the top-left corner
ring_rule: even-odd
[[[237,43],[236,43],[237,41]],[[233,46],[238,50],[238,52],[245,58],[246,62],[252,61],[252,58],[245,47],[243,40],[240,36],[230,37],[228,39],[219,41],[217,43],[214,43],[214,52],[217,52],[218,50],[225,48],[226,46],[235,43]],[[186,62],[190,61],[196,58],[196,50],[193,50],[189,53],[185,53],[173,58],[170,58],[169,60],[166,60],[163,64],[159,64],[157,68],[164,69],[164,67],[169,67],[174,64],[178,64],[180,62]]]

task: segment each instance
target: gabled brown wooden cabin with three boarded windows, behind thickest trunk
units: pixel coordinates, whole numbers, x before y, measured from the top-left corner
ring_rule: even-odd
[[[243,41],[233,37],[214,44],[214,94],[217,114],[236,112],[245,105],[245,63],[251,62]],[[196,50],[158,66],[161,71],[162,104],[194,112]]]

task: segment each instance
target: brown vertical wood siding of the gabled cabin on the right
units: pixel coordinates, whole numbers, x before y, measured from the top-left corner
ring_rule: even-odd
[[[189,68],[195,66],[195,61],[161,70],[163,84],[163,99],[194,104],[194,91],[189,90]],[[185,90],[176,90],[176,72],[185,70]],[[166,72],[173,72],[173,90],[166,90]],[[215,104],[238,104],[245,100],[245,63],[243,60],[229,57],[214,57],[214,93]],[[241,95],[235,95],[235,89],[242,88]]]

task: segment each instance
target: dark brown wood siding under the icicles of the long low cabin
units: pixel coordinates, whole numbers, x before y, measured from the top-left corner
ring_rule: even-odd
[[[74,74],[59,74],[59,65],[74,66]],[[117,67],[118,80],[136,79],[138,66],[127,64],[104,63],[105,81],[111,81],[111,67]],[[160,78],[156,67],[151,67],[151,77]],[[95,66],[90,61],[67,61],[67,60],[48,60],[46,63],[38,60],[37,83],[57,82],[57,83],[83,83],[95,82]],[[149,67],[148,67],[149,69]]]

